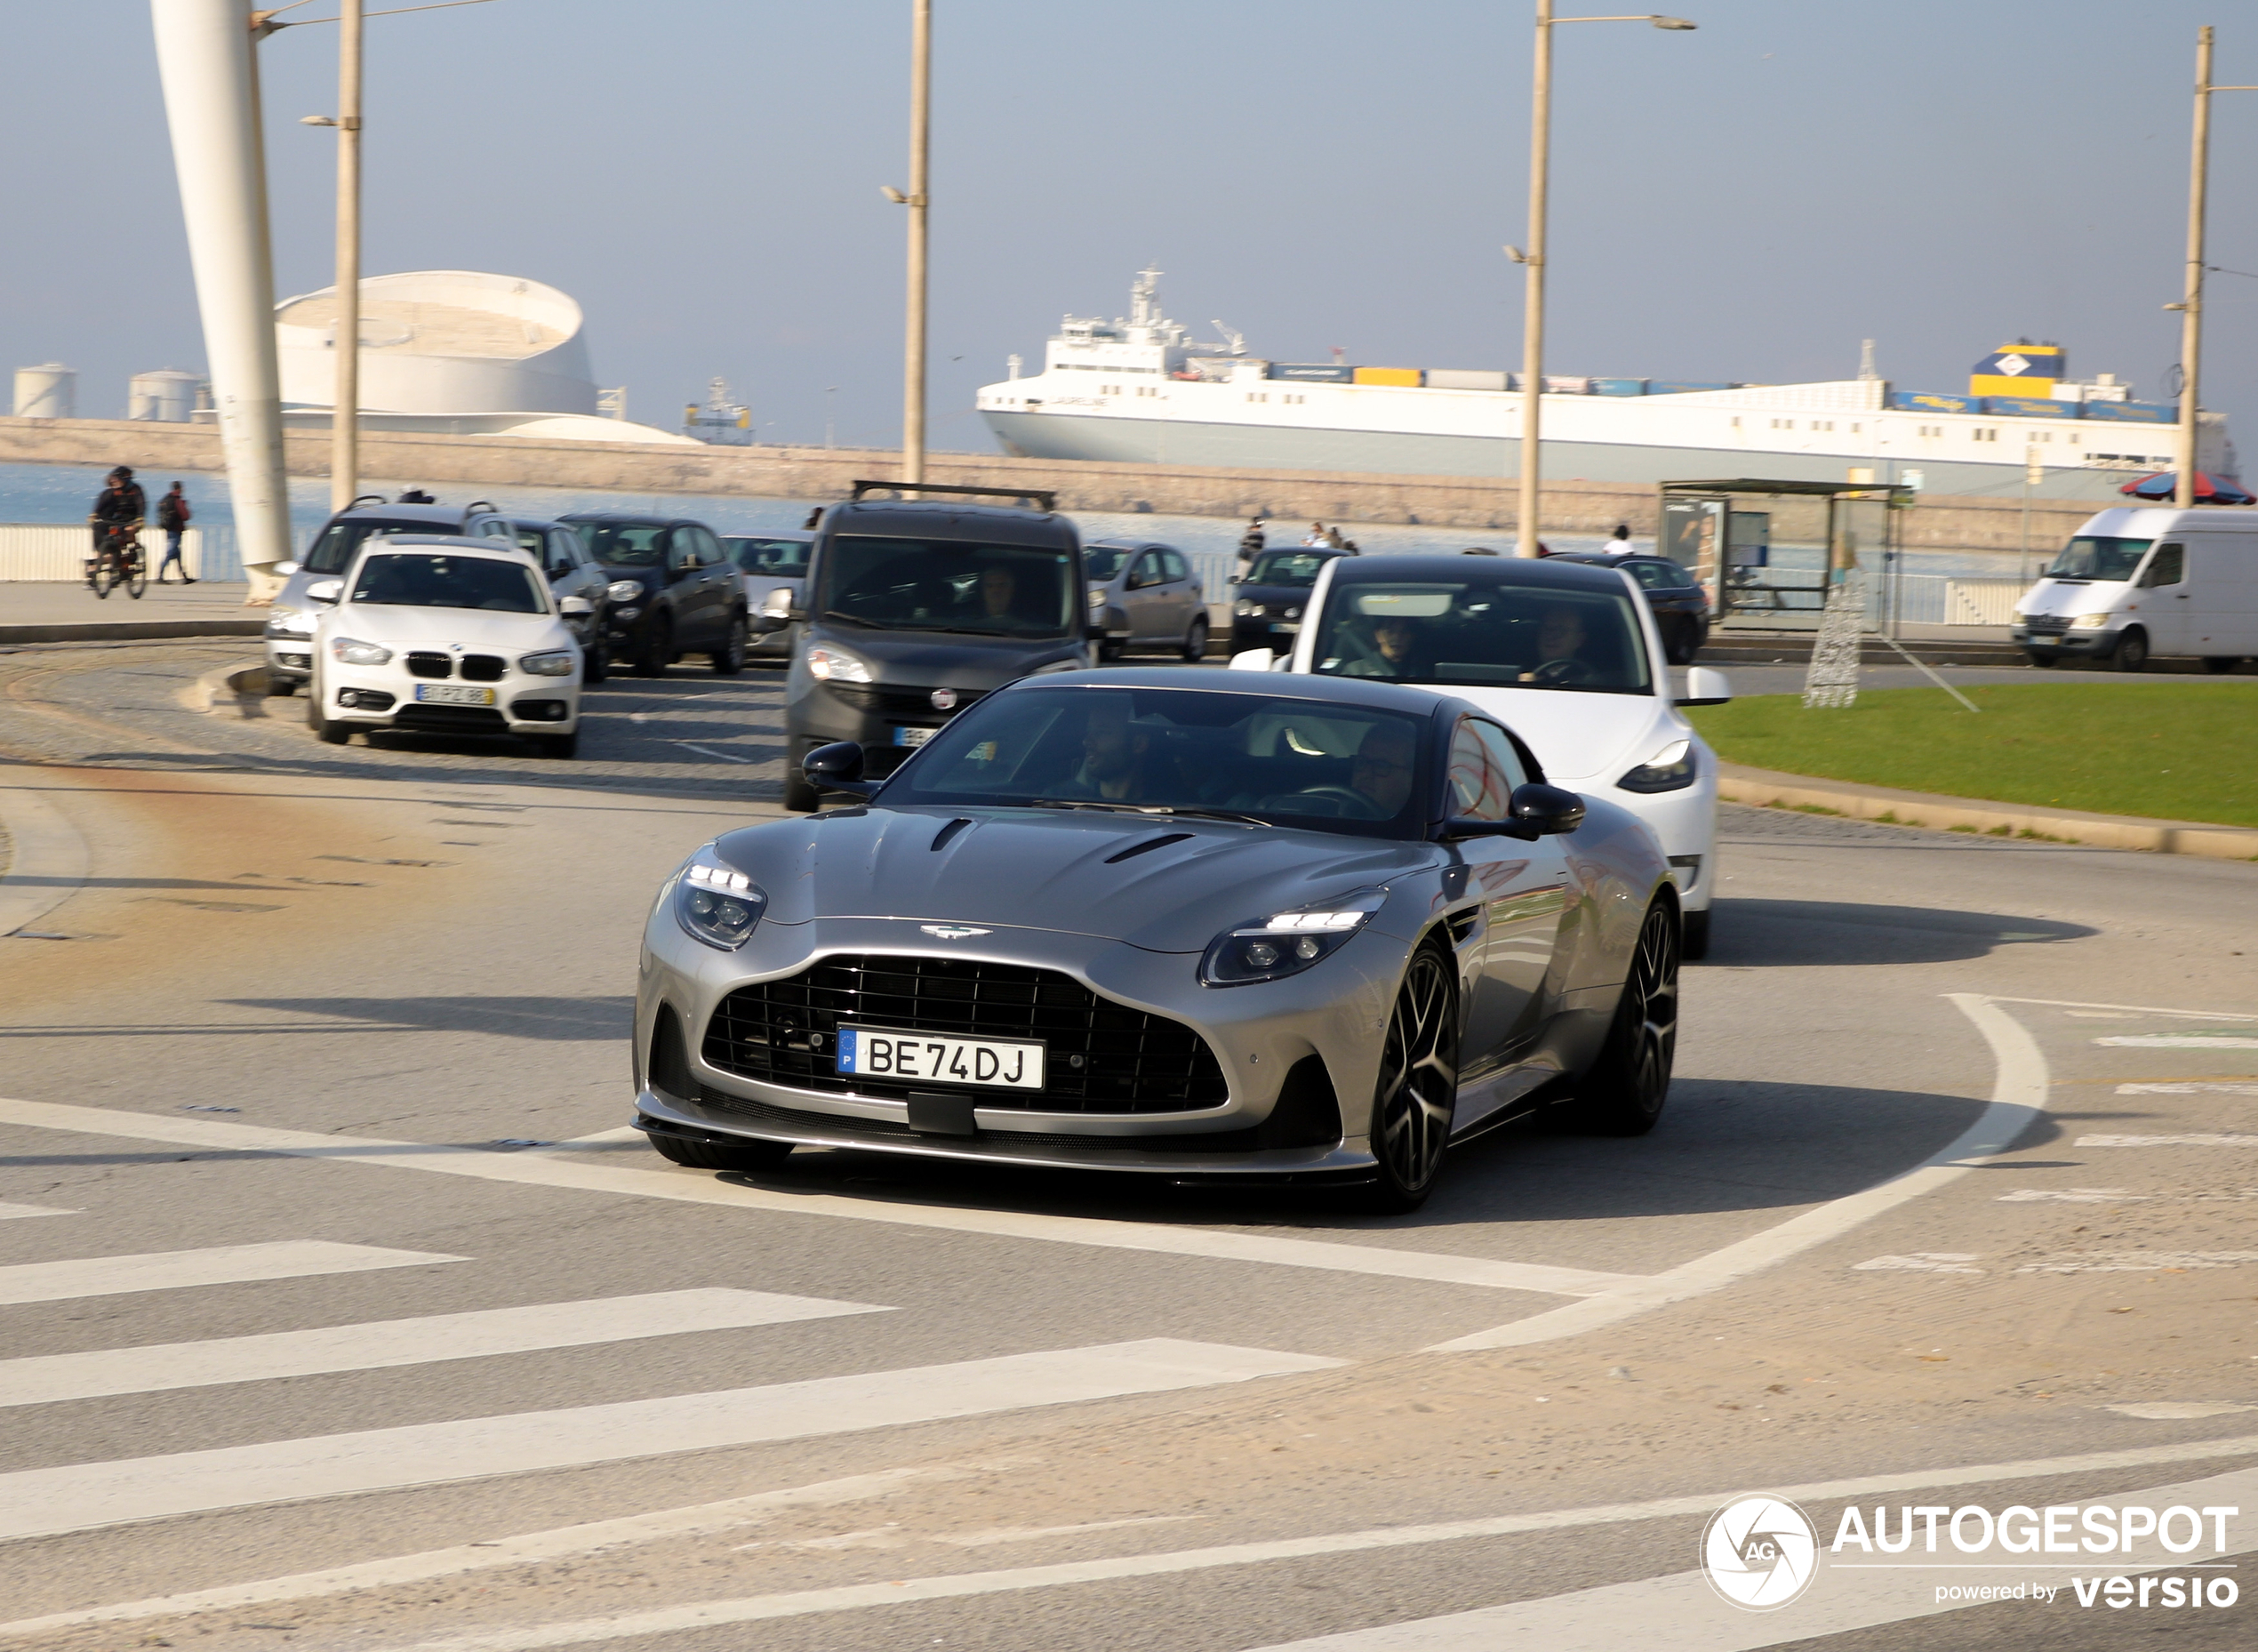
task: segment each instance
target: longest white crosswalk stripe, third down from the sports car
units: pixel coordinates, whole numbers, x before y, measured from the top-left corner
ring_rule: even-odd
[[[1152,1338],[770,1388],[20,1469],[0,1473],[0,1541],[255,1503],[806,1440],[1120,1394],[1163,1394],[1323,1372],[1344,1363],[1314,1354]]]

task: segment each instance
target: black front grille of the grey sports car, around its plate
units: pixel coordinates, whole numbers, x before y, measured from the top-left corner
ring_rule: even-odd
[[[718,1071],[826,1096],[930,1094],[930,1083],[838,1073],[840,1026],[1039,1040],[1043,1089],[969,1092],[991,1110],[1190,1112],[1231,1098],[1215,1051],[1181,1021],[1100,999],[1057,970],[969,958],[840,954],[756,981],[720,1001],[702,1053]]]

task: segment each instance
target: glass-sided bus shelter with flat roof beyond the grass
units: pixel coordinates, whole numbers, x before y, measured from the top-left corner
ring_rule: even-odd
[[[1664,481],[1655,547],[1694,569],[1712,624],[1818,631],[1827,592],[1865,574],[1872,612],[1890,612],[1897,513],[1913,488],[1874,481]]]

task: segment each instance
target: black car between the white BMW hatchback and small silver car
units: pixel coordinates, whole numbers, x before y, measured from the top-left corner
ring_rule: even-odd
[[[605,646],[637,676],[664,676],[684,653],[702,653],[716,676],[745,667],[745,585],[704,522],[589,511],[562,518],[610,574]]]

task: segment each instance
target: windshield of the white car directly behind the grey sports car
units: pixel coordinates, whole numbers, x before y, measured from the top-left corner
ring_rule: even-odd
[[[1651,694],[1628,594],[1490,581],[1334,585],[1316,669],[1389,682]]]

